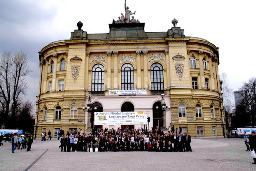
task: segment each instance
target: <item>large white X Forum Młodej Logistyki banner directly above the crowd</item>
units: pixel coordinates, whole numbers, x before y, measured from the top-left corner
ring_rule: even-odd
[[[146,125],[146,111],[94,112],[94,125]]]

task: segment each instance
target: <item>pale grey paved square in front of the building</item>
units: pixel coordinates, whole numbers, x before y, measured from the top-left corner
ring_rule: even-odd
[[[34,140],[31,151],[0,147],[1,171],[256,171],[243,139],[192,138],[185,152],[61,152],[58,140]]]

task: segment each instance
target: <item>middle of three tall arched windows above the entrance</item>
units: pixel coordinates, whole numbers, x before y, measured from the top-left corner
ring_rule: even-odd
[[[133,66],[131,64],[124,64],[122,66],[121,83],[124,90],[134,89]]]

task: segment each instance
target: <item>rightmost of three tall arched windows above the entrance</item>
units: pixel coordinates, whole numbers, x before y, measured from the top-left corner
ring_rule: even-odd
[[[164,78],[163,78],[163,67],[161,64],[154,63],[150,68],[151,74],[151,89],[152,90],[163,90],[164,89]]]

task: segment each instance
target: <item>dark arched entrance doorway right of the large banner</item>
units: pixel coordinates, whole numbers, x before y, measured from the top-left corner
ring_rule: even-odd
[[[157,101],[156,103],[154,103],[152,108],[154,129],[159,129],[160,127],[163,127],[163,111],[161,107],[161,101]]]

